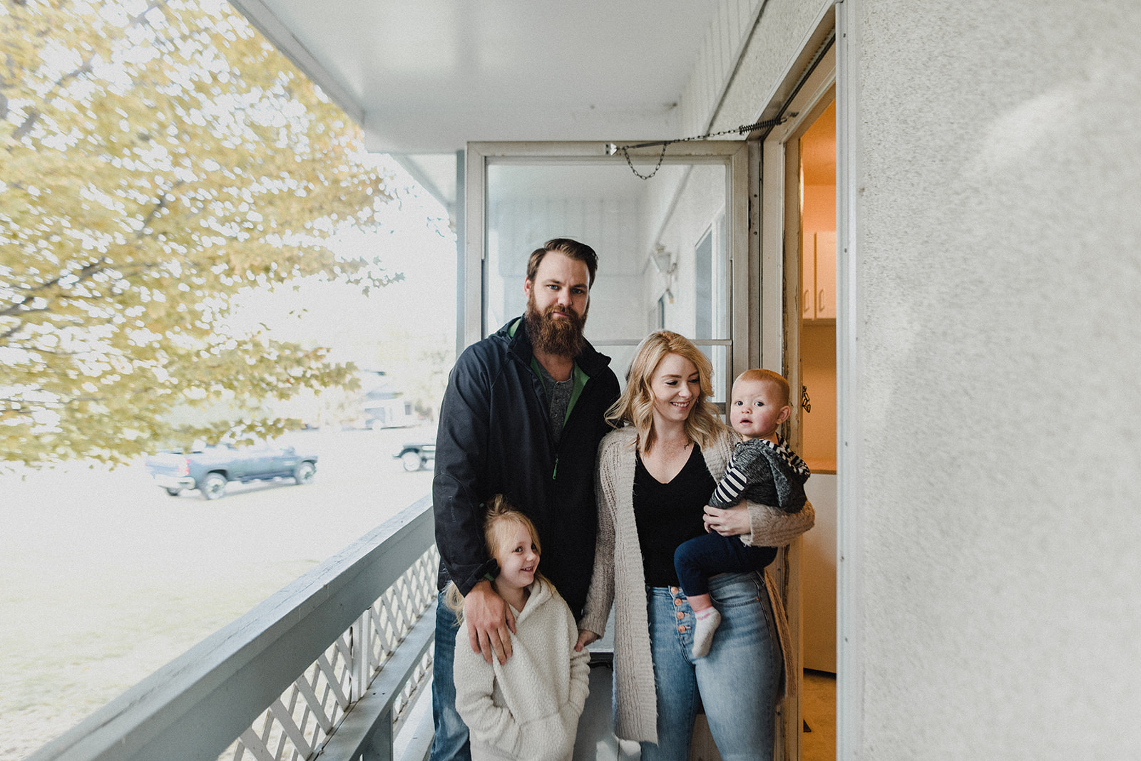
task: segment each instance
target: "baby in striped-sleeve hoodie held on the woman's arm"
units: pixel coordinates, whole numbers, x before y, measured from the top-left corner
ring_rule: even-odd
[[[777,433],[792,415],[788,382],[772,370],[745,370],[733,383],[729,424],[743,441],[736,445],[729,467],[710,506],[733,507],[742,499],[775,505],[786,513],[804,507],[804,461]],[[709,533],[682,542],[673,556],[681,589],[694,609],[694,657],[704,657],[713,644],[721,614],[709,595],[709,578],[718,573],[759,571],[772,560],[769,547],[751,547],[738,537]],[[470,648],[469,648],[470,649]]]

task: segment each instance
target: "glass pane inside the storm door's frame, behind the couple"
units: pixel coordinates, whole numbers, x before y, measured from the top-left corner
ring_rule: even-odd
[[[723,164],[666,164],[641,180],[624,163],[541,161],[487,167],[487,333],[524,312],[531,252],[568,237],[598,252],[586,337],[613,358],[620,380],[652,330],[728,341]],[[728,349],[705,350],[715,360],[720,401]]]

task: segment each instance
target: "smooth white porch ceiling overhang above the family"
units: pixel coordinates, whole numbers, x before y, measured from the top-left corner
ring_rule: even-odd
[[[468,141],[679,137],[718,0],[230,0],[451,211]]]

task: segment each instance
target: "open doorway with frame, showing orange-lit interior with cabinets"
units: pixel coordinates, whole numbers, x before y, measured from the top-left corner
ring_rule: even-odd
[[[836,673],[836,130],[835,51],[828,48],[787,104],[791,118],[763,145],[766,182],[761,240],[764,366],[782,369],[793,390],[788,441],[808,463],[804,485],[816,526],[788,547],[779,583],[791,598],[790,625],[801,641],[798,669],[809,672],[816,719],[827,730],[786,736],[811,742],[812,758],[834,758]],[[792,608],[799,612],[793,617]],[[798,630],[799,628],[799,630]],[[802,706],[801,706],[802,707]],[[807,713],[807,712],[806,712]],[[786,719],[791,719],[790,717]],[[793,739],[795,737],[795,739]],[[810,738],[810,740],[809,740]],[[826,738],[826,739],[825,739]],[[818,747],[822,742],[830,748]],[[794,748],[790,747],[788,751]]]

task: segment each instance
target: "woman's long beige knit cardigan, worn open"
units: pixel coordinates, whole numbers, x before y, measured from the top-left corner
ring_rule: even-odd
[[[633,427],[618,428],[607,434],[598,448],[598,543],[594,575],[578,629],[605,633],[610,603],[614,603],[615,734],[623,739],[656,743],[657,697],[646,613],[646,576],[633,507],[637,440],[638,433]],[[725,429],[702,448],[705,466],[714,481],[725,475],[736,442],[736,435]],[[742,535],[746,545],[783,547],[811,529],[816,514],[810,502],[792,515],[775,507],[748,502],[748,517],[751,532]],[[764,581],[787,673],[791,672],[788,622],[768,573]],[[793,697],[794,685],[794,679],[785,679],[785,699]]]

